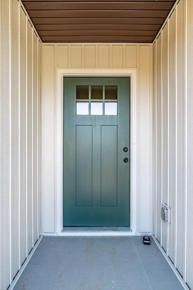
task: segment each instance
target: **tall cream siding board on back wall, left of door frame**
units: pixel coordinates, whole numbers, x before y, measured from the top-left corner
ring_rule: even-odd
[[[43,231],[55,231],[54,198],[54,45],[43,50]],[[46,61],[45,61],[46,60]],[[49,60],[49,61],[48,61]],[[49,144],[49,146],[48,146]],[[52,152],[52,153],[51,153]],[[49,156],[49,158],[48,158]],[[49,171],[46,171],[49,168]],[[49,174],[48,174],[49,173]],[[46,213],[46,216],[45,216]]]

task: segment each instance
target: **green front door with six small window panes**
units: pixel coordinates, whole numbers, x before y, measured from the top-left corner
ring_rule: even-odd
[[[64,78],[64,226],[129,226],[129,105],[129,78]]]

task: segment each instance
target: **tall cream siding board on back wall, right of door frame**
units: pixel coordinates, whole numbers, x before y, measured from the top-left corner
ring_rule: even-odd
[[[151,48],[139,47],[139,226],[138,231],[151,232],[151,195],[150,195],[150,110],[151,110]],[[144,215],[145,212],[149,214]]]

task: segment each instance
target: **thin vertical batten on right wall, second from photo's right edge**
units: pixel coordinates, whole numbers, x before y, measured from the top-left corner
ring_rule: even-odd
[[[176,79],[175,79],[175,86],[176,86],[176,241],[175,241],[175,249],[174,249],[174,266],[177,268],[177,233],[178,233],[178,62],[177,62],[177,53],[178,53],[178,5],[175,8],[176,12],[176,49],[175,49],[175,71],[176,71]]]

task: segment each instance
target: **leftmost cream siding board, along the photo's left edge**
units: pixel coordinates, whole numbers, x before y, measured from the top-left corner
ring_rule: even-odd
[[[1,287],[9,286],[9,5],[1,1]],[[3,146],[5,144],[5,146]],[[11,245],[10,245],[11,246]]]

